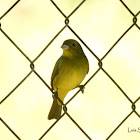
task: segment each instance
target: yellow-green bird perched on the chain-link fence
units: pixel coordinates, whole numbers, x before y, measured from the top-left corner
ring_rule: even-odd
[[[67,93],[78,87],[89,71],[88,59],[81,45],[74,39],[65,40],[62,47],[63,54],[57,60],[52,76],[52,89],[58,93],[63,102]],[[48,119],[58,119],[61,116],[62,104],[54,98]]]

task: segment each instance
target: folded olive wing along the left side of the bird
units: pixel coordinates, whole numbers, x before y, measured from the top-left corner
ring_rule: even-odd
[[[53,88],[53,80],[55,78],[55,76],[59,73],[59,63],[61,61],[61,57],[57,60],[55,66],[54,66],[54,69],[53,69],[53,72],[52,72],[52,76],[51,76],[51,86],[52,86],[52,89]]]

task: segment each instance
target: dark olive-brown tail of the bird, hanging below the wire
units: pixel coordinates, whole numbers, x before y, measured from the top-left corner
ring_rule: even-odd
[[[54,98],[52,107],[50,109],[48,119],[58,119],[61,116],[62,105],[59,105],[57,99]]]

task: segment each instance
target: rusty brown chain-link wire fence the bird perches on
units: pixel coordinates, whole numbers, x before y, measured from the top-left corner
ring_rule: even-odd
[[[0,101],[0,105],[3,105],[3,102],[7,101],[8,102],[8,98],[10,98],[12,96],[12,94],[14,94],[15,90],[17,88],[19,88],[23,82],[26,82],[26,79],[32,74],[34,73],[38,79],[40,79],[40,81],[42,81],[42,83],[47,87],[47,89],[50,90],[53,98],[57,98],[57,100],[62,104],[62,108],[63,108],[63,113],[62,115],[42,134],[42,136],[40,136],[39,140],[43,139],[50,131],[51,129],[53,129],[53,127],[55,127],[55,125],[57,125],[57,123],[64,117],[67,116],[68,119],[70,119],[75,126],[77,126],[79,128],[79,130],[81,130],[81,133],[83,133],[87,139],[92,140],[94,138],[91,138],[87,133],[86,130],[82,129],[81,126],[77,123],[77,121],[75,121],[75,119],[69,114],[68,112],[68,107],[67,105],[77,96],[77,94],[81,91],[83,93],[84,88],[86,87],[86,85],[99,73],[99,71],[101,70],[109,79],[110,81],[112,81],[112,83],[114,83],[114,85],[121,91],[120,94],[123,94],[125,99],[128,100],[131,104],[131,109],[132,111],[126,115],[125,118],[123,118],[123,120],[121,120],[121,122],[118,124],[118,126],[116,126],[116,128],[109,134],[109,136],[106,138],[106,140],[110,139],[112,137],[112,135],[119,129],[119,127],[121,125],[123,125],[123,123],[134,113],[138,118],[140,118],[140,114],[138,113],[138,111],[136,110],[136,104],[137,102],[140,102],[140,97],[138,97],[134,102],[130,99],[130,97],[127,95],[127,93],[119,86],[119,84],[114,80],[113,77],[111,77],[111,75],[103,68],[103,60],[112,52],[112,50],[117,47],[117,44],[120,42],[120,40],[135,26],[137,27],[137,29],[140,30],[140,26],[138,25],[138,16],[140,15],[140,11],[138,11],[136,14],[134,14],[131,9],[125,4],[125,2],[123,0],[120,0],[120,3],[123,5],[123,7],[126,8],[126,10],[133,16],[132,18],[132,25],[126,29],[122,35],[118,38],[118,40],[116,40],[116,42],[110,47],[110,49],[102,56],[102,58],[100,59],[91,49],[89,46],[87,46],[87,44],[84,42],[83,39],[81,39],[81,37],[78,35],[78,33],[76,33],[69,25],[70,23],[70,17],[72,15],[75,14],[75,12],[86,2],[86,0],[81,0],[81,2],[77,5],[77,7],[69,14],[69,15],[65,15],[65,13],[61,10],[61,8],[53,1],[50,0],[50,3],[52,3],[52,5],[58,10],[58,13],[60,13],[63,17],[64,17],[64,27],[62,29],[60,29],[55,35],[54,37],[51,39],[51,41],[44,47],[44,49],[38,53],[38,55],[34,58],[34,60],[31,60],[26,54],[25,52],[20,48],[20,46],[18,46],[16,44],[16,42],[2,29],[2,20],[3,18],[12,10],[14,10],[15,6],[18,6],[18,3],[20,2],[20,0],[17,0],[15,3],[13,3],[13,5],[6,11],[4,12],[1,16],[0,16],[0,32],[5,36],[5,38],[7,38],[7,41],[11,42],[13,44],[13,46],[16,48],[17,52],[20,53],[22,56],[24,56],[25,59],[27,59],[30,63],[30,71],[28,72],[27,75],[25,75],[25,77],[15,86],[13,87],[13,89]],[[68,28],[73,35],[75,35],[77,37],[77,39],[80,40],[80,42],[84,45],[84,47],[95,57],[95,59],[97,59],[98,61],[98,69],[91,75],[91,77],[84,83],[84,85],[80,85],[79,86],[79,90],[66,102],[63,103],[58,94],[57,91],[54,92],[53,89],[46,83],[46,81],[43,79],[43,77],[40,76],[40,74],[35,70],[35,61],[37,61],[42,54],[47,50],[48,47],[50,47],[51,43],[66,29]],[[87,120],[88,121],[88,120]],[[21,138],[18,136],[18,134],[12,129],[12,127],[10,127],[8,125],[8,123],[6,123],[3,119],[2,116],[0,116],[0,122],[13,134],[13,136],[15,136],[16,139],[21,140]]]

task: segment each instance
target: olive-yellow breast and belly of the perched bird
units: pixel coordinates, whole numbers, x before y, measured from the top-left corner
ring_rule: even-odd
[[[80,85],[88,71],[84,59],[64,59],[60,63],[59,73],[53,80],[53,87],[70,91]]]

